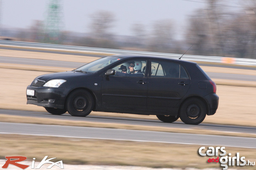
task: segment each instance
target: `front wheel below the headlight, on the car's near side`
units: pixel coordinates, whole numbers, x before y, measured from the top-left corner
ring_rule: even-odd
[[[92,95],[86,90],[71,92],[66,101],[68,113],[76,117],[86,117],[94,107]]]

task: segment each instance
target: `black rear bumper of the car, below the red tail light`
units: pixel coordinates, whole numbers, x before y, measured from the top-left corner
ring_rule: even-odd
[[[204,96],[208,103],[209,112],[207,115],[214,115],[219,106],[219,96],[215,93],[211,93],[207,96]]]

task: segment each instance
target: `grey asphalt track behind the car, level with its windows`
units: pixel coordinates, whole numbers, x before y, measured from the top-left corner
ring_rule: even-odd
[[[96,55],[93,55],[93,56],[96,57]],[[97,56],[97,57],[100,57],[100,56]],[[32,58],[4,57],[4,56],[0,56],[0,62],[13,63],[13,64],[28,64],[28,65],[36,65],[36,66],[66,67],[67,70],[71,70],[69,68],[78,68],[86,64],[81,62],[41,60],[41,59],[32,59]],[[202,64],[202,65],[206,65],[206,64]],[[243,67],[243,68],[248,69],[247,67]],[[254,69],[254,68],[251,68],[251,69]],[[207,72],[207,74],[209,75],[210,78],[213,78],[213,79],[256,81],[255,75],[213,73],[213,72]]]

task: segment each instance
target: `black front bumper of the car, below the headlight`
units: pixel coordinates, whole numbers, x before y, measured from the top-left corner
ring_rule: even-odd
[[[27,95],[27,104],[63,109],[70,89],[28,86],[27,90],[34,90],[34,96]]]

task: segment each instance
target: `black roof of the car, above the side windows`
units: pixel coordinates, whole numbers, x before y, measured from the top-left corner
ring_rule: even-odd
[[[190,64],[197,64],[196,62],[192,62],[192,61],[186,61],[186,60],[179,60],[179,59],[174,59],[174,58],[170,58],[167,56],[156,56],[156,55],[141,55],[141,54],[119,54],[119,55],[114,55],[120,58],[126,58],[126,59],[133,59],[134,57],[138,57],[138,58],[145,58],[145,59],[155,59],[155,60],[159,60],[159,59],[163,59],[163,60],[168,60],[168,61],[172,61],[172,62],[178,62],[178,63],[190,63]]]

